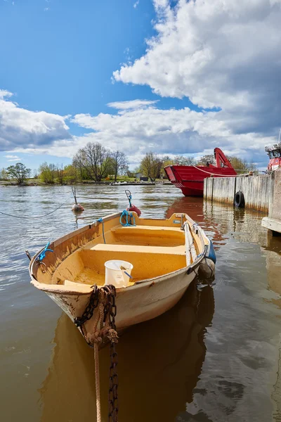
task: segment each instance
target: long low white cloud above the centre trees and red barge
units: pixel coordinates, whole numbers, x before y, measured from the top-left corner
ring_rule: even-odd
[[[198,113],[189,108],[141,108],[124,110],[117,115],[79,114],[72,121],[94,131],[77,138],[79,146],[88,141],[99,141],[108,148],[124,151],[131,160],[146,151],[202,155],[221,146],[230,155],[266,162],[264,146],[274,142],[275,138],[256,133],[234,134],[221,116],[223,112]],[[67,146],[67,151],[70,153],[73,148]]]

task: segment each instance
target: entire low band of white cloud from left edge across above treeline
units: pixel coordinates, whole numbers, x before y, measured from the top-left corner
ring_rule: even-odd
[[[0,100],[0,146],[9,160],[20,160],[15,153],[48,154],[72,158],[87,142],[100,142],[119,149],[137,164],[147,151],[159,154],[212,153],[221,146],[230,155],[266,163],[266,143],[276,141],[254,132],[235,134],[225,112],[190,108],[162,110],[156,101],[133,100],[109,103],[117,114],[77,114],[72,122],[91,133],[71,136],[65,120],[70,116],[33,112]],[[241,116],[235,116],[237,122]]]

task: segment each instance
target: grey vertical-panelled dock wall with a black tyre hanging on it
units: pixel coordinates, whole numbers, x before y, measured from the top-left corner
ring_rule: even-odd
[[[234,205],[235,193],[244,194],[245,207],[268,212],[274,173],[263,176],[209,177],[204,179],[206,200]]]

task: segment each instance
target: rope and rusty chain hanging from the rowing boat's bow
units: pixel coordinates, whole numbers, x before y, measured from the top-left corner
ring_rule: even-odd
[[[100,411],[100,372],[98,347],[107,338],[110,341],[110,388],[108,397],[108,421],[118,422],[118,376],[116,367],[117,352],[115,345],[118,343],[118,335],[115,324],[115,316],[117,314],[117,306],[115,303],[116,289],[115,286],[103,286],[98,288],[96,284],[93,287],[89,303],[86,306],[82,316],[74,319],[74,323],[80,328],[86,342],[94,349],[95,358],[95,375],[96,375],[96,409],[97,421],[101,422]],[[93,328],[91,333],[85,332],[84,324],[92,318],[94,310],[97,310],[93,319]]]

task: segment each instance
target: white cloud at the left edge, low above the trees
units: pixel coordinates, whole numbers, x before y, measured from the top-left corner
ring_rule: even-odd
[[[37,148],[58,139],[70,138],[66,117],[30,111],[11,101],[11,93],[0,91],[0,151],[13,151],[16,147]]]

